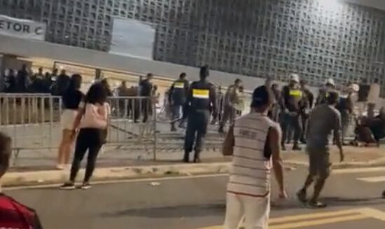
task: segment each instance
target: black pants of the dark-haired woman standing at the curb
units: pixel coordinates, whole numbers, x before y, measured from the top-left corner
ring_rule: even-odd
[[[84,182],[90,181],[92,173],[94,172],[97,155],[105,141],[104,135],[104,130],[94,128],[80,129],[78,138],[76,139],[75,155],[73,155],[71,175],[69,177],[70,181],[75,181],[80,168],[80,162],[83,160],[85,152],[87,151],[87,167],[85,168]]]

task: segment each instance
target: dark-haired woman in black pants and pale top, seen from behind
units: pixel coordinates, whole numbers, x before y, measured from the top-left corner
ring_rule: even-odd
[[[75,188],[76,175],[86,151],[88,151],[87,167],[85,169],[83,185],[80,188],[91,188],[90,178],[94,172],[97,155],[100,148],[106,142],[111,109],[106,102],[107,92],[103,85],[100,83],[92,85],[84,100],[84,102],[80,103],[78,115],[72,128],[72,130],[77,130],[78,128],[80,130],[76,139],[75,155],[73,156],[69,181],[60,187],[64,190]],[[74,131],[73,134],[75,134]]]

